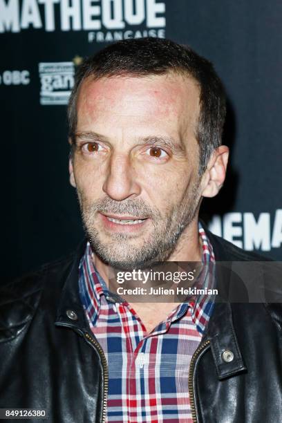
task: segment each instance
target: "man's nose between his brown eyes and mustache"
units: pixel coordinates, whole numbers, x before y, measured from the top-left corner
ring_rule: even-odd
[[[129,157],[115,154],[111,156],[103,191],[116,201],[140,194],[141,188]]]

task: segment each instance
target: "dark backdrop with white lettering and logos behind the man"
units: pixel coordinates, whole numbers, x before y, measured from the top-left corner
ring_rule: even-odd
[[[113,41],[147,36],[188,44],[225,84],[231,160],[203,220],[239,247],[282,260],[281,18],[279,0],[0,0],[3,278],[82,238],[68,183],[75,68]]]

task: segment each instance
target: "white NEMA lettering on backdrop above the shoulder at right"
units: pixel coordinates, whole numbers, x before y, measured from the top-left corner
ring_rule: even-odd
[[[270,213],[227,213],[214,215],[209,230],[244,250],[270,251],[282,245],[282,209],[277,209],[274,218]]]

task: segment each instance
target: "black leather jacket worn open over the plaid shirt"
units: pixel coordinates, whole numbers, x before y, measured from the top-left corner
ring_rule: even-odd
[[[258,260],[207,235],[217,261]],[[106,359],[78,294],[84,246],[1,293],[0,408],[46,408],[52,423],[106,421]],[[216,303],[191,360],[195,422],[282,422],[281,325],[279,304]]]

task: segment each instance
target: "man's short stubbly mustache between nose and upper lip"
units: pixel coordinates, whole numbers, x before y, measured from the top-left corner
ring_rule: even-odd
[[[147,206],[140,198],[135,198],[135,200],[127,198],[122,201],[112,200],[111,198],[103,198],[102,200],[93,202],[86,208],[88,212],[91,212],[91,214],[97,214],[98,212],[102,214],[124,214],[136,216],[137,218],[160,216],[160,212],[158,212],[158,210]]]

